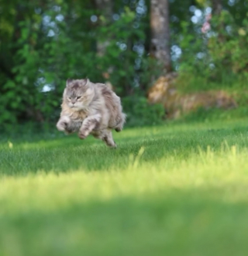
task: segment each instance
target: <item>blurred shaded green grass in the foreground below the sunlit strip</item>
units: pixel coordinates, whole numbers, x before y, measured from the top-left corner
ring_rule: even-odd
[[[15,250],[26,256],[245,255],[248,207],[218,198],[201,189],[171,191],[4,216],[0,251],[3,256]]]

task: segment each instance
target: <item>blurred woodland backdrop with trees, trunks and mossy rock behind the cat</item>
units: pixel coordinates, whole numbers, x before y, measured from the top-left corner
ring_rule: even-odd
[[[0,126],[53,127],[66,79],[129,126],[248,114],[247,0],[0,0]]]

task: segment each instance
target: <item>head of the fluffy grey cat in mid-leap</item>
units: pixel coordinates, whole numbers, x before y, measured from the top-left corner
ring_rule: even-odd
[[[64,89],[64,101],[74,110],[83,110],[88,107],[95,96],[95,90],[89,79],[67,79]]]

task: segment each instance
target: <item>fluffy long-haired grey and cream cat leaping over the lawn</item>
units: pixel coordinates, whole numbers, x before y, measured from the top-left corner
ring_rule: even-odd
[[[67,79],[61,107],[59,131],[67,134],[78,131],[80,139],[91,134],[106,145],[116,147],[112,129],[122,131],[126,114],[122,113],[119,96],[105,84],[89,79]]]

